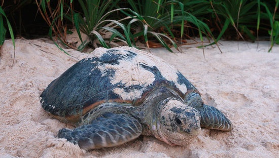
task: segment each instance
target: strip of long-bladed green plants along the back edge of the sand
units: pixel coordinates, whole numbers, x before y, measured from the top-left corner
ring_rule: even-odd
[[[269,51],[279,44],[279,15],[276,13],[279,1],[36,0],[33,3],[37,4],[39,13],[50,26],[50,38],[61,50],[62,46],[80,51],[86,47],[111,48],[118,46],[119,42],[137,47],[140,41],[147,47],[158,43],[171,52],[171,47],[181,50],[179,46],[187,38],[199,37],[199,48],[203,48],[218,46],[222,38],[254,42],[262,34],[270,35]],[[27,4],[30,2],[24,0],[15,5],[24,7]],[[8,19],[15,14],[4,11],[1,6],[0,47],[7,31],[15,46],[13,28],[16,27],[9,22],[13,17]],[[67,33],[73,27],[78,32],[80,46],[66,41]],[[82,38],[82,32],[89,40]],[[204,46],[205,39],[210,44]]]

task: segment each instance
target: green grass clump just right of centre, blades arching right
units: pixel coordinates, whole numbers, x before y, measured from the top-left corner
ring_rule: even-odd
[[[133,38],[137,39],[144,36],[147,47],[150,45],[150,38],[155,37],[161,46],[170,52],[172,52],[170,46],[178,49],[178,45],[180,45],[178,44],[179,38],[181,42],[185,35],[185,28],[190,26],[189,23],[194,26],[190,26],[191,28],[195,28],[198,31],[201,43],[203,42],[203,36],[214,39],[210,28],[191,13],[186,12],[184,10],[186,7],[180,1],[127,2],[129,3],[129,8],[138,15],[133,16],[124,12],[133,18],[129,22],[130,27],[135,30]],[[186,23],[188,25],[185,25]],[[175,36],[172,32],[173,30],[180,31],[180,36]]]

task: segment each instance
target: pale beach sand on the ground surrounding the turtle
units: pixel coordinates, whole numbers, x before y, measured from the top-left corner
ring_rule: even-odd
[[[222,45],[221,45],[222,44]],[[169,146],[140,137],[112,148],[84,151],[56,139],[63,124],[40,105],[44,88],[78,60],[67,56],[48,39],[5,41],[0,57],[0,157],[276,157],[279,155],[279,47],[267,53],[268,42],[220,42],[217,48],[184,49],[152,54],[178,68],[231,120],[231,132],[202,129],[186,147]],[[87,54],[68,49],[82,59]]]

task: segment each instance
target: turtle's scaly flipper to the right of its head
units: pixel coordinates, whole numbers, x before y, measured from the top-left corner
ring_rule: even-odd
[[[200,108],[200,126],[221,131],[232,130],[232,123],[217,108],[203,104]]]

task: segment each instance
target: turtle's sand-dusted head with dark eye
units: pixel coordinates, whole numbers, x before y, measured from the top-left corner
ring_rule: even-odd
[[[178,99],[165,99],[158,119],[158,139],[170,145],[186,145],[200,132],[199,112]]]

